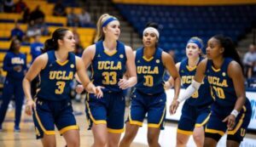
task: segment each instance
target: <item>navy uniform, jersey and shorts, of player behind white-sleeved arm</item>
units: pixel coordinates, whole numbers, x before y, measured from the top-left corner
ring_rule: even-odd
[[[198,63],[202,58],[199,60]],[[183,88],[188,88],[195,76],[196,66],[189,68],[189,59],[183,59],[179,67],[179,75]],[[177,133],[193,134],[195,127],[204,126],[210,116],[212,95],[207,78],[201,87],[183,105],[182,116],[179,119]]]

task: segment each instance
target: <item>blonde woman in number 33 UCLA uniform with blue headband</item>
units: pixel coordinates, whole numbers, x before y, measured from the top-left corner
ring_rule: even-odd
[[[125,96],[123,90],[137,83],[134,55],[131,47],[119,42],[119,20],[102,14],[97,22],[95,44],[84,50],[82,59],[91,65],[92,81],[104,96],[96,99],[88,94],[86,114],[94,136],[93,146],[118,146],[124,132]],[[129,78],[123,78],[127,71]]]

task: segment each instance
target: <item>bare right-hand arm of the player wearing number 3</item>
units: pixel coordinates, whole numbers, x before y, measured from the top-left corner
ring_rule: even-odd
[[[76,68],[79,80],[82,83],[83,87],[88,93],[95,93],[98,98],[102,97],[102,90],[100,87],[95,87],[95,85],[90,82],[89,76],[86,73],[83,60],[79,57],[76,57]]]

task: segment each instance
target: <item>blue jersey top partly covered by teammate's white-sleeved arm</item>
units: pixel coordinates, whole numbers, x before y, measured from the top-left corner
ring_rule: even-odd
[[[202,58],[199,60],[198,63],[200,63],[201,60]],[[189,68],[189,59],[183,59],[183,61],[180,63],[178,72],[182,79],[182,87],[188,88],[192,80],[194,79],[196,66],[193,69]],[[198,91],[196,91],[189,99],[186,100],[189,105],[194,106],[210,105],[212,101],[213,99],[207,78],[204,79]]]

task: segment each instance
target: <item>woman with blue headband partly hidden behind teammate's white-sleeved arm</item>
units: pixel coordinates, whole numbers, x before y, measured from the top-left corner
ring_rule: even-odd
[[[201,38],[191,37],[186,46],[187,58],[176,65],[182,79],[183,88],[188,88],[195,76],[196,67],[203,59],[201,58],[202,48],[203,42]],[[172,82],[172,77],[170,80]],[[173,100],[172,105],[175,105],[176,100]],[[203,146],[204,125],[210,116],[212,100],[209,83],[205,78],[201,88],[187,99],[183,105],[182,116],[177,126],[177,147],[186,146],[189,136],[192,134],[196,146]]]

